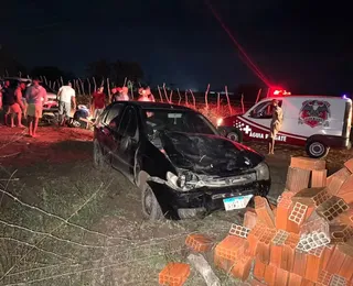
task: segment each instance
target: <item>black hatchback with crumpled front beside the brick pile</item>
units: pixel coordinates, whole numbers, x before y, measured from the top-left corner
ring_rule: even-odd
[[[94,164],[137,185],[152,220],[242,209],[270,187],[264,156],[221,136],[201,113],[168,103],[108,106],[95,124]]]

